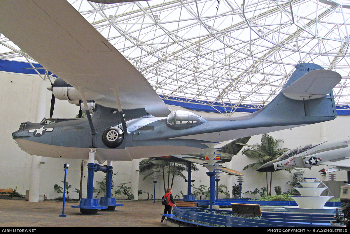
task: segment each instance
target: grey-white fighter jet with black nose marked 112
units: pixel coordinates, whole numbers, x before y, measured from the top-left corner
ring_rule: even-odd
[[[321,175],[338,170],[350,169],[350,138],[325,141],[299,146],[287,151],[278,159],[262,165],[258,171],[278,171],[289,168],[327,165],[334,166],[320,170]]]

